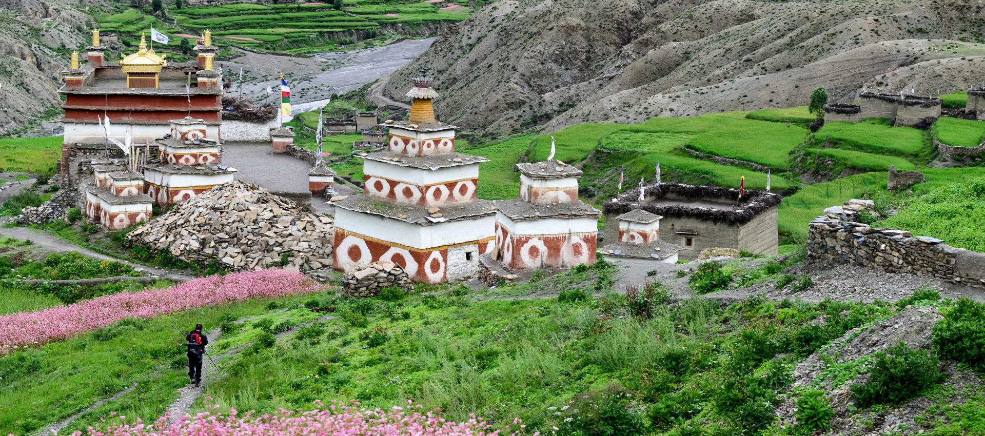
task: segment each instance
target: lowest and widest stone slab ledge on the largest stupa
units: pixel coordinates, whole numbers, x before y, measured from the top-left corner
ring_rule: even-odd
[[[336,208],[347,211],[398,219],[418,225],[434,225],[444,221],[483,218],[495,214],[493,202],[488,200],[473,200],[464,204],[440,207],[436,213],[440,214],[440,217],[432,217],[435,214],[428,213],[427,211],[431,209],[428,207],[399,205],[370,195],[347,197],[332,204]]]

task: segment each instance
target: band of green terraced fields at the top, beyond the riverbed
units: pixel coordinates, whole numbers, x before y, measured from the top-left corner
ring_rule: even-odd
[[[99,18],[104,31],[121,33],[135,41],[151,26],[172,36],[170,45],[177,46],[184,36],[213,31],[217,45],[234,44],[251,49],[270,49],[292,52],[307,48],[331,50],[361,39],[373,39],[383,33],[386,25],[405,24],[412,28],[430,22],[460,22],[469,17],[468,3],[427,3],[416,0],[346,0],[337,11],[332,3],[277,4],[234,3],[222,6],[203,6],[168,9],[176,20],[164,25],[147,11],[126,9],[118,14]],[[332,33],[350,32],[332,39]],[[194,42],[194,41],[190,41]]]

